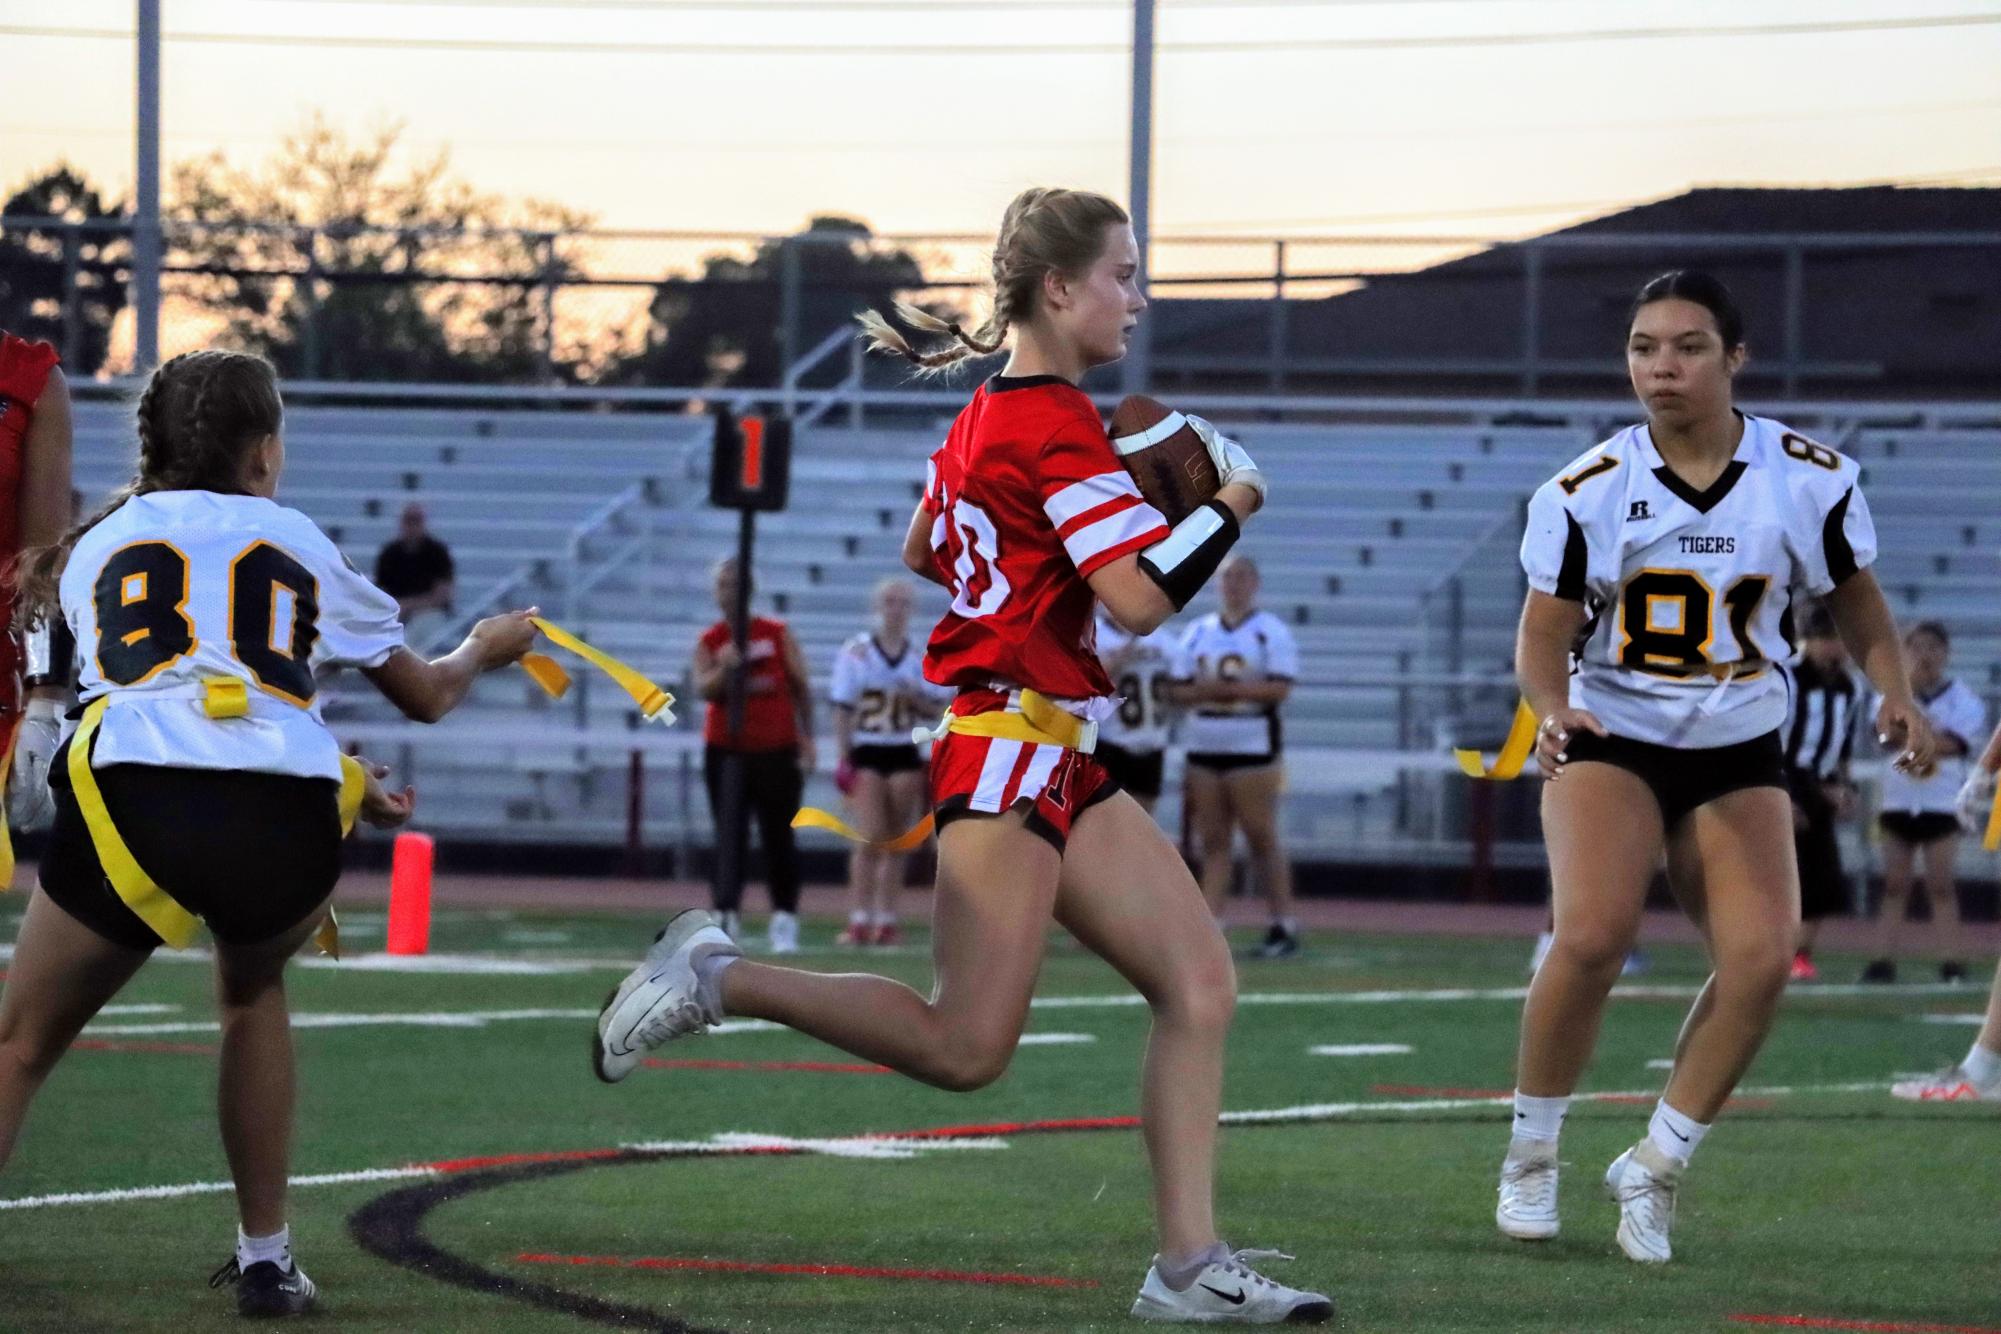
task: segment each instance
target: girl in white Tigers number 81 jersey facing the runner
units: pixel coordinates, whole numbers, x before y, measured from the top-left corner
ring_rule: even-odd
[[[1557,938],[1529,984],[1515,1138],[1495,1220],[1557,1234],[1557,1132],[1665,854],[1715,972],[1689,1010],[1647,1138],[1605,1176],[1619,1248],[1663,1262],[1691,1154],[1771,1028],[1799,930],[1793,808],[1777,728],[1795,586],[1825,596],[1883,692],[1905,768],[1935,742],[1867,566],[1855,462],[1731,406],[1743,318],[1709,274],[1641,288],[1627,370],[1647,406],[1535,492],[1515,646],[1537,762]],[[1573,652],[1575,646],[1575,652]]]

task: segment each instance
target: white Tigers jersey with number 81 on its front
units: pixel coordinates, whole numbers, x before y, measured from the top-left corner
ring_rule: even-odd
[[[1583,602],[1571,708],[1615,736],[1733,746],[1785,720],[1793,590],[1819,596],[1875,560],[1855,460],[1741,414],[1743,438],[1697,492],[1629,426],[1529,502],[1529,586]],[[1723,680],[1729,684],[1719,684]]]

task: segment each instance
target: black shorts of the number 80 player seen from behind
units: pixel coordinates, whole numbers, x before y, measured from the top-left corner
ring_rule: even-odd
[[[68,758],[64,746],[50,764],[56,824],[42,854],[42,892],[106,940],[152,950],[160,938],[104,878]],[[340,784],[332,778],[152,764],[112,764],[96,778],[126,848],[216,940],[280,936],[318,912],[340,880]]]

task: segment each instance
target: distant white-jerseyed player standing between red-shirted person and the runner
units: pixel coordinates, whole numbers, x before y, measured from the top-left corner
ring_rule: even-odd
[[[848,798],[854,830],[894,838],[924,810],[924,756],[910,728],[932,722],[942,696],[924,680],[924,654],[910,642],[916,592],[886,578],[874,590],[874,630],[856,634],[834,656],[828,698],[834,706],[834,786]],[[848,854],[848,926],[836,944],[896,944],[896,898],[908,852],[856,844]]]

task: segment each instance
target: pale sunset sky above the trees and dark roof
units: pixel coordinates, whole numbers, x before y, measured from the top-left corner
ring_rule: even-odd
[[[0,184],[70,158],[128,188],[134,8],[0,0]],[[480,188],[622,228],[982,232],[1027,184],[1127,190],[1117,0],[164,10],[168,158],[248,164],[314,110],[404,122]],[[1841,30],[1913,20],[1951,22]],[[1159,40],[1157,232],[1515,236],[1691,184],[2001,184],[2001,0],[1163,0]]]

